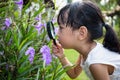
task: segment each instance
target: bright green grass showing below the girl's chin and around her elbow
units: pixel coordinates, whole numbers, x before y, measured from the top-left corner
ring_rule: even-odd
[[[77,53],[75,50],[65,50],[65,55],[69,59],[69,61],[74,64],[78,58],[79,53]],[[76,79],[70,79],[67,74],[65,74],[65,80],[89,80],[84,71],[76,78]]]

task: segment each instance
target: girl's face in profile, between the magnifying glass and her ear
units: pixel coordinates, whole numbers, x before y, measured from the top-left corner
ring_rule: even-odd
[[[63,48],[74,48],[76,42],[76,31],[72,28],[60,25],[58,30],[58,40]]]

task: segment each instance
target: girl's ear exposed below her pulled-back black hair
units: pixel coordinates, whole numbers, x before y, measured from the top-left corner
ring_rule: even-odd
[[[79,40],[86,39],[88,36],[88,30],[85,26],[79,28]]]

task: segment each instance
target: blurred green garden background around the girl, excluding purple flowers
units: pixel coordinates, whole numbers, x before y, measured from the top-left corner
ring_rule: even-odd
[[[58,8],[61,6],[61,4],[57,5],[58,2],[61,1],[61,3],[65,2],[67,4],[82,0],[23,0],[23,10],[21,13],[16,11],[17,8],[15,4],[13,4],[14,1],[18,0],[0,0],[0,28],[3,27],[6,17],[11,17],[13,21],[11,24],[12,30],[7,29],[5,32],[0,30],[0,80],[71,80],[69,77],[64,76],[66,75],[64,74],[65,71],[62,70],[56,58],[53,58],[54,61],[51,65],[45,67],[44,61],[41,59],[42,56],[35,54],[35,60],[31,65],[28,57],[25,56],[24,53],[29,46],[33,46],[36,53],[39,53],[39,49],[43,45],[51,45],[50,41],[46,39],[47,33],[45,28],[42,28],[43,32],[41,35],[37,35],[37,31],[32,27],[32,23],[37,23],[34,21],[37,15],[42,13],[42,23],[46,23],[48,21],[47,12],[49,11],[45,11],[45,8],[53,9],[52,15],[57,15],[56,12],[59,11]],[[100,7],[106,23],[115,29],[120,39],[120,0],[83,1],[92,1]],[[38,11],[31,11],[29,14],[26,14],[25,10],[31,6],[32,2],[39,3],[40,8]],[[34,16],[31,15],[32,13]],[[19,17],[19,14],[23,17]],[[56,22],[55,25],[57,26]],[[11,36],[13,38],[12,42],[10,42]],[[9,42],[12,44],[8,44]],[[76,55],[71,57],[73,54],[68,53],[74,53]],[[65,54],[74,64],[78,56],[77,52],[69,50],[65,51]],[[88,80],[84,72],[74,80],[79,79]]]

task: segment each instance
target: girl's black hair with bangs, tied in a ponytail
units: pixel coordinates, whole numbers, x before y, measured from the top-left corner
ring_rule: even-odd
[[[120,42],[114,30],[105,24],[101,10],[92,2],[76,2],[66,5],[60,10],[57,22],[59,25],[69,25],[73,30],[85,26],[90,33],[90,40],[101,38],[104,26],[106,34],[103,46],[111,51],[120,53]]]

